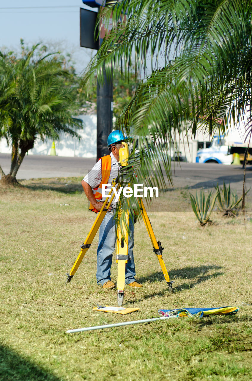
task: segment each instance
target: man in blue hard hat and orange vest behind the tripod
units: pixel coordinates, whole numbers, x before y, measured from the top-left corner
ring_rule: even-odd
[[[109,134],[107,142],[110,155],[100,158],[81,181],[84,192],[91,203],[89,209],[96,213],[100,211],[105,201],[105,198],[102,198],[102,184],[111,184],[113,178],[118,177],[119,149],[123,147],[121,142],[124,140],[125,137],[119,130]],[[115,208],[116,202],[114,199],[100,225],[99,231],[96,279],[97,284],[101,285],[102,288],[115,287],[115,283],[110,279],[112,253],[115,250],[116,243]],[[135,280],[136,271],[133,256],[134,223],[131,218],[129,219],[129,231],[128,255],[131,256],[131,260],[128,260],[128,263],[126,263],[125,283],[131,287],[142,287]]]

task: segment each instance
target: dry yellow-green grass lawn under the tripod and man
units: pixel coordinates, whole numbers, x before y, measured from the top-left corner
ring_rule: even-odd
[[[187,189],[159,197],[148,215],[176,292],[169,293],[145,226],[137,222],[134,258],[144,287],[126,288],[123,306],[139,311],[120,315],[93,311],[97,303],[117,305],[116,289],[96,285],[97,237],[72,282],[65,284],[95,218],[80,180],[37,179],[22,181],[19,189],[0,188],[0,378],[250,381],[252,191],[245,223],[241,214],[225,219],[215,210],[214,224],[204,228]],[[65,333],[158,317],[161,308],[221,306],[240,311]]]

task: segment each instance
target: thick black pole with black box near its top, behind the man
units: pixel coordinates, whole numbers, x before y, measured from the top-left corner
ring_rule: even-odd
[[[105,5],[106,1],[103,0],[82,0],[84,4],[99,8]],[[83,13],[85,10],[82,10]],[[89,12],[89,11],[88,11]],[[94,13],[94,12],[92,12]],[[90,14],[90,13],[89,13]],[[86,26],[87,18],[81,21],[81,35],[83,38],[81,40],[81,46],[91,47],[93,49],[97,49],[96,46],[87,46],[85,40],[85,32],[87,29]],[[88,18],[89,20],[89,18]],[[105,29],[104,24],[102,24],[102,20],[100,20],[100,34],[99,34],[99,45],[102,44],[102,40],[105,37],[105,34],[109,32],[112,27],[112,22],[109,23],[108,27]],[[95,30],[92,30],[93,40],[95,35]],[[90,34],[90,31],[89,31]],[[111,67],[111,75],[107,77],[105,68],[103,69],[103,81],[97,82],[97,158],[99,160],[100,157],[108,154],[107,147],[107,137],[112,132],[113,127],[113,72]]]

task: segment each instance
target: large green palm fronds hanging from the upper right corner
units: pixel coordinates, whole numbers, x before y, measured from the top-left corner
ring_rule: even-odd
[[[140,150],[132,164],[140,182],[164,182],[159,162],[152,160],[158,156],[171,180],[164,145],[176,139],[176,131],[183,131],[186,140],[201,122],[210,135],[226,133],[228,118],[238,121],[248,104],[251,129],[251,1],[112,1],[101,16],[108,20],[112,10],[113,30],[89,64],[83,84],[94,75],[102,81],[102,68],[109,75],[111,62],[122,72],[134,63],[145,74],[118,120],[121,129],[138,137]],[[118,21],[124,15],[126,21]]]

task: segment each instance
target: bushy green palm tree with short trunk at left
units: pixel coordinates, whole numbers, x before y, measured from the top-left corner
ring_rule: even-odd
[[[12,147],[10,173],[0,167],[2,183],[17,183],[22,160],[37,138],[58,139],[61,132],[79,137],[73,130],[81,127],[73,117],[78,88],[67,83],[71,74],[62,69],[61,57],[39,57],[37,48],[23,49],[21,58],[0,52],[0,138]]]

